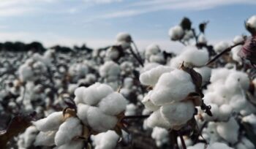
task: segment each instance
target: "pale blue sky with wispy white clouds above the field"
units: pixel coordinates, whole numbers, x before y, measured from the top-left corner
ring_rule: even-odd
[[[140,49],[152,42],[179,48],[167,32],[184,16],[192,25],[209,20],[209,42],[247,34],[244,20],[256,15],[255,0],[0,0],[0,42],[102,47],[121,31],[132,34]]]

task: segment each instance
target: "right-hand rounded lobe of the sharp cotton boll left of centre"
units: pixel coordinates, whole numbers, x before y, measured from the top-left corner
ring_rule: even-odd
[[[99,102],[99,109],[108,115],[118,115],[127,106],[127,100],[121,93],[113,92]]]

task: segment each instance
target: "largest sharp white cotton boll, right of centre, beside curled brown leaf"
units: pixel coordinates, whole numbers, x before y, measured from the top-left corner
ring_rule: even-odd
[[[140,81],[154,87],[143,99],[145,107],[153,111],[146,120],[148,126],[180,129],[192,118],[195,105],[192,101],[182,101],[195,91],[195,85],[187,72],[159,66],[141,74]]]

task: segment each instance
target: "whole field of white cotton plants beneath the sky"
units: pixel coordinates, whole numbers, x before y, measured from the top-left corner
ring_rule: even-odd
[[[209,45],[207,25],[170,27],[178,54],[125,32],[100,49],[1,44],[0,148],[254,149],[256,15],[230,42]]]

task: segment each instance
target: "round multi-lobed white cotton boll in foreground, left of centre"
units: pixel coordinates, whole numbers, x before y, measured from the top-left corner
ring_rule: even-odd
[[[127,101],[109,85],[95,83],[88,88],[75,90],[75,104],[78,106],[78,118],[83,124],[94,131],[104,132],[116,126],[117,115],[124,112]]]

